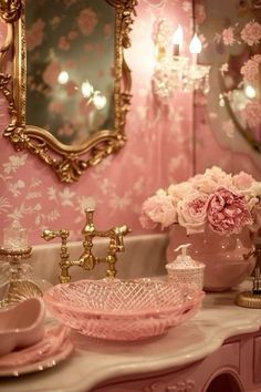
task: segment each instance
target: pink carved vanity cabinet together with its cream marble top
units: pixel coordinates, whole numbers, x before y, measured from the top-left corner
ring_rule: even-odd
[[[143,342],[72,333],[70,358],[42,372],[2,378],[0,391],[261,391],[261,310],[234,306],[234,295],[207,293],[192,319]]]

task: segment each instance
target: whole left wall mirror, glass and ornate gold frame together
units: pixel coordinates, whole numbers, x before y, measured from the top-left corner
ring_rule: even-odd
[[[137,0],[0,0],[7,22],[3,136],[72,183],[123,147],[130,105],[124,50]],[[3,72],[11,53],[13,76]]]

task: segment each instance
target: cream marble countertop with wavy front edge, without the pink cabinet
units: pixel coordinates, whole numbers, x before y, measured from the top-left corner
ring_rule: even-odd
[[[76,349],[67,360],[39,373],[1,378],[0,391],[86,392],[115,376],[159,372],[200,360],[226,339],[259,330],[261,310],[234,306],[236,292],[207,293],[192,319],[147,341],[106,342],[73,333]]]

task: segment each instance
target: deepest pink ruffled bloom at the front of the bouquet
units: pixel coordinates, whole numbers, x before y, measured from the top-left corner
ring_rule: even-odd
[[[221,236],[239,234],[253,221],[244,197],[226,188],[210,196],[207,216],[210,228]]]

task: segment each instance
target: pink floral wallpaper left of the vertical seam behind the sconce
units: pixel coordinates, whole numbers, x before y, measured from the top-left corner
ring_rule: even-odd
[[[192,96],[179,93],[169,106],[155,101],[152,92],[154,64],[153,24],[166,17],[189,33],[189,1],[139,0],[126,53],[133,71],[133,101],[127,117],[128,141],[117,154],[87,171],[79,183],[59,183],[52,171],[27,151],[15,153],[0,140],[0,231],[18,218],[30,230],[30,241],[41,244],[43,227],[67,228],[71,239],[81,238],[84,208],[96,202],[95,224],[105,229],[127,224],[133,234],[142,202],[156,188],[180,182],[192,174]],[[7,124],[4,101],[0,100],[0,126]],[[147,231],[146,231],[147,233]]]

